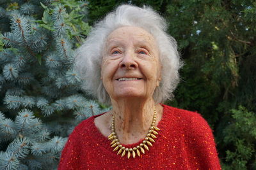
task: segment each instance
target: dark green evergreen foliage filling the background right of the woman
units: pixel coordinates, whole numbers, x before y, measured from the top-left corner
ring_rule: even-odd
[[[223,131],[234,120],[231,109],[243,105],[252,115],[256,112],[255,9],[254,1],[172,1],[166,10],[169,32],[185,61],[175,101],[168,103],[206,118],[214,129],[223,169],[255,167],[255,138]],[[232,127],[249,135],[240,126],[248,128],[253,118]]]

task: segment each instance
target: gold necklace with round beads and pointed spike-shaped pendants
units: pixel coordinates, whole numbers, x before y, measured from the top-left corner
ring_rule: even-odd
[[[142,141],[142,143],[140,143],[140,145],[134,147],[134,148],[125,148],[124,146],[122,146],[116,136],[116,132],[115,132],[115,117],[114,115],[112,116],[112,133],[109,134],[108,139],[111,140],[111,148],[114,148],[113,152],[115,152],[116,150],[118,150],[117,155],[119,155],[122,152],[121,157],[124,157],[124,155],[127,153],[127,158],[129,159],[131,157],[135,158],[136,153],[137,155],[140,157],[140,152],[142,152],[143,154],[145,154],[145,150],[149,150],[148,146],[152,146],[152,143],[155,143],[155,140],[153,138],[156,138],[156,135],[158,134],[157,131],[160,131],[160,129],[158,127],[155,126],[156,124],[156,106],[154,107],[154,117],[151,123],[150,128],[148,129],[148,134],[145,137],[145,139]],[[148,145],[148,146],[147,146]]]

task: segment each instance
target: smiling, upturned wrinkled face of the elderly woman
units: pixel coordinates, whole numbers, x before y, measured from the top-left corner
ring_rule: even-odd
[[[140,27],[125,26],[109,34],[101,76],[111,99],[149,99],[161,80],[154,37]]]

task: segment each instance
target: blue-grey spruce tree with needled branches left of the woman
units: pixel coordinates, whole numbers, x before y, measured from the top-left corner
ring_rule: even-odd
[[[72,69],[90,30],[87,4],[0,4],[0,169],[56,169],[68,134],[104,111]]]

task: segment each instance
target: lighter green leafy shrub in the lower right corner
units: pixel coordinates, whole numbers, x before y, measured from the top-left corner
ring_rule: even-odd
[[[256,115],[242,106],[231,113],[232,120],[223,130],[225,145],[229,145],[227,169],[255,167]]]

